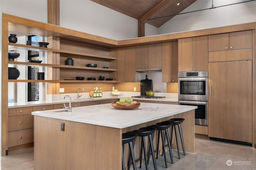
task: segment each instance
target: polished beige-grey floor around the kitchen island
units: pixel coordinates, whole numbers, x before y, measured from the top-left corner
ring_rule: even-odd
[[[185,146],[186,147],[186,146]],[[34,149],[26,149],[19,152],[10,153],[1,157],[1,170],[33,170]],[[204,136],[196,135],[195,153],[181,154],[178,159],[176,150],[172,151],[174,164],[168,163],[168,168],[164,167],[163,156],[156,160],[158,170],[255,170],[256,169],[256,149],[243,145],[221,143],[209,141]],[[170,154],[167,153],[170,162]],[[231,166],[226,162],[231,160]],[[245,162],[247,161],[247,162]],[[140,170],[144,170],[142,164]],[[150,160],[150,170],[154,170],[152,160]]]

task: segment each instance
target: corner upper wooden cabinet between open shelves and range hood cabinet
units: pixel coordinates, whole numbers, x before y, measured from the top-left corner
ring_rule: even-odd
[[[117,49],[117,82],[135,82],[135,47]]]

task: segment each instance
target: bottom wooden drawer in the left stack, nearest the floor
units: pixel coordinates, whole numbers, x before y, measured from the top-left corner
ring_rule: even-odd
[[[8,147],[33,142],[33,129],[8,132]]]

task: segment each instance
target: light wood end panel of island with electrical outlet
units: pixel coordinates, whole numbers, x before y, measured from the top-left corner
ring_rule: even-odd
[[[34,121],[35,170],[121,169],[121,129],[40,116]]]

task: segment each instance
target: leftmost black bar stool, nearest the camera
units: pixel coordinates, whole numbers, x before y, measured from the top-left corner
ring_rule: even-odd
[[[125,170],[125,166],[124,166],[124,144],[128,143],[129,144],[129,149],[130,149],[130,158],[132,159],[132,165],[133,165],[133,169],[136,169],[136,163],[135,163],[135,156],[134,156],[134,142],[135,139],[138,135],[135,133],[123,133],[122,134],[122,170]],[[130,159],[129,158],[129,159]]]

